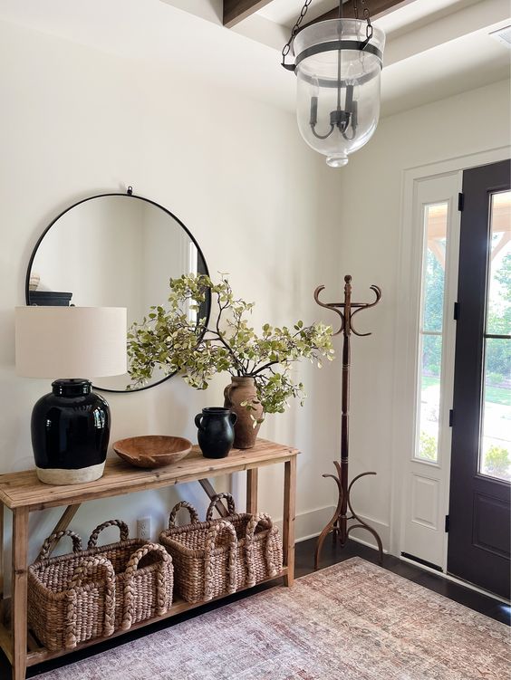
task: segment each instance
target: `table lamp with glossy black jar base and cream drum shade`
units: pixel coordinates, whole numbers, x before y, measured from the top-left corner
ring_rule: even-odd
[[[16,307],[15,326],[16,373],[58,378],[32,412],[37,476],[44,484],[99,479],[111,416],[89,378],[126,372],[126,308]]]

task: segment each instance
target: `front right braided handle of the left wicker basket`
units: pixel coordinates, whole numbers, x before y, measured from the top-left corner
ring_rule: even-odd
[[[146,543],[139,550],[133,552],[124,572],[124,608],[122,612],[122,630],[129,630],[133,623],[133,599],[135,586],[133,579],[139,568],[140,560],[149,552],[155,552],[158,556],[158,570],[156,572],[156,614],[161,617],[169,609],[169,589],[167,570],[172,558],[162,545],[158,543]]]

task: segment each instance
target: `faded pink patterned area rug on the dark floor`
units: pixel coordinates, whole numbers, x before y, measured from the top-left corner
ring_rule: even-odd
[[[42,680],[508,680],[509,629],[360,558]]]

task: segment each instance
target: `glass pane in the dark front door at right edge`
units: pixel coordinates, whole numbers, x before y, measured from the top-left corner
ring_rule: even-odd
[[[479,472],[511,481],[511,191],[491,196]],[[498,338],[491,336],[500,336]],[[489,337],[488,337],[489,336]]]

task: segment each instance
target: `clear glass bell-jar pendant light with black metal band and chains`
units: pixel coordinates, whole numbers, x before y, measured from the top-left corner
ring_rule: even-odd
[[[298,128],[307,144],[341,168],[349,154],[363,147],[380,117],[380,73],[385,34],[371,24],[362,0],[363,19],[353,0],[354,19],[339,18],[300,29],[306,0],[283,50],[284,68],[297,76]],[[294,64],[285,57],[293,49]]]

